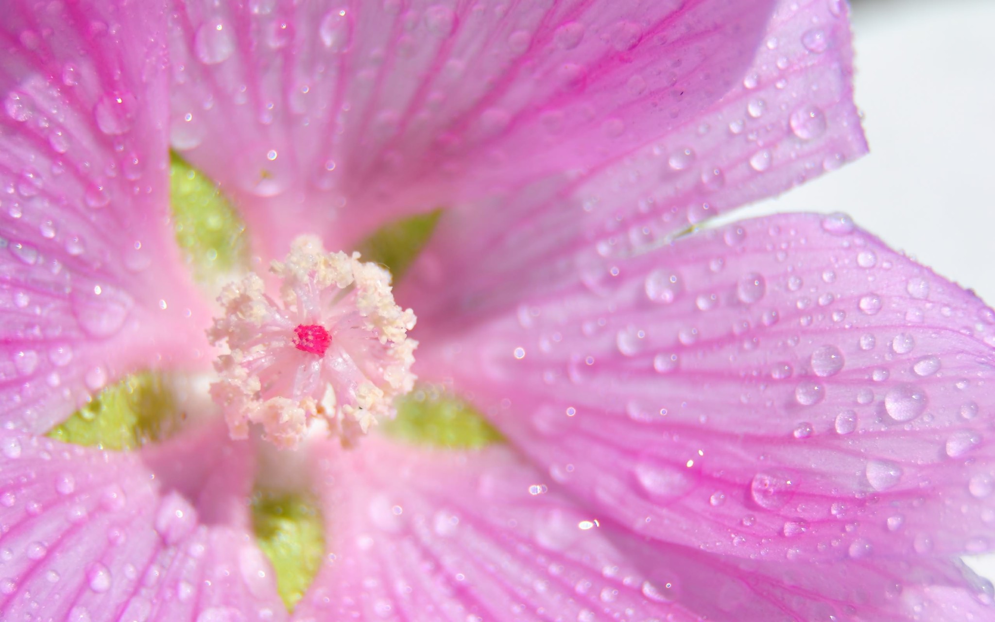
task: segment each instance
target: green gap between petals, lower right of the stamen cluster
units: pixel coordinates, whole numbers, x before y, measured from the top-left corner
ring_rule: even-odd
[[[387,436],[415,445],[480,449],[504,437],[465,400],[434,387],[418,387],[398,398],[397,417],[383,425]]]

